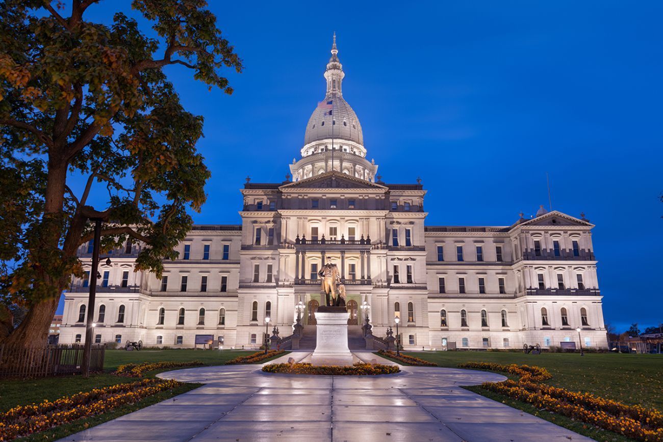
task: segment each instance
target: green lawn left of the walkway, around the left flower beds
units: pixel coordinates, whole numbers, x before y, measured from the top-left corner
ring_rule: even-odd
[[[93,388],[100,388],[111,386],[115,384],[124,384],[127,382],[135,382],[138,378],[130,378],[126,376],[115,376],[111,374],[117,366],[128,364],[130,362],[161,362],[161,361],[182,361],[188,362],[191,360],[200,360],[206,365],[222,365],[227,360],[234,359],[238,356],[251,355],[255,351],[241,351],[241,350],[194,350],[194,349],[178,349],[178,350],[143,350],[143,351],[125,351],[125,350],[107,350],[103,364],[103,373],[91,374],[89,378],[82,376],[56,376],[52,378],[35,378],[35,379],[3,379],[0,380],[0,412],[6,412],[10,408],[19,405],[29,405],[32,403],[42,402],[43,400],[56,400],[62,396],[70,396],[78,392],[90,391]],[[282,355],[280,355],[282,356]],[[271,359],[267,359],[271,360]],[[265,361],[261,361],[265,362]],[[147,372],[145,378],[151,378],[156,374],[176,370],[176,368],[169,368],[166,370],[154,370]],[[46,441],[59,439],[72,433],[82,431],[86,428],[93,427],[99,423],[115,419],[121,415],[125,415],[141,408],[145,408],[162,400],[172,398],[198,388],[201,384],[184,384],[181,387],[174,388],[173,390],[160,392],[149,396],[136,404],[126,404],[116,408],[112,412],[88,417],[86,419],[79,419],[78,421],[61,425],[50,429],[30,435],[21,440],[26,441]]]

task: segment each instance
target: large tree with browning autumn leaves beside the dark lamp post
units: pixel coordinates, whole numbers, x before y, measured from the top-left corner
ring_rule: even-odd
[[[242,70],[204,0],[133,0],[155,38],[121,12],[109,26],[86,21],[98,1],[72,0],[69,17],[59,1],[0,2],[0,293],[28,308],[11,333],[0,327],[6,343],[46,342],[62,290],[83,276],[76,251],[93,237],[90,219],[103,220],[102,250],[141,241],[136,270],[160,277],[210,177],[196,151],[203,119],[163,68],[225,93],[221,70]],[[78,193],[75,176],[86,177]],[[96,207],[100,185],[108,197]]]

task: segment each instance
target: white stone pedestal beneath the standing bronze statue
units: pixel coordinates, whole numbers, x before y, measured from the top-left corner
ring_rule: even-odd
[[[316,311],[316,349],[311,357],[314,365],[352,365],[352,353],[347,348],[347,319],[345,307],[319,307]]]

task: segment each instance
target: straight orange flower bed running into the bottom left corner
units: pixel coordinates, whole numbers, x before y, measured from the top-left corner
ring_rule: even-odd
[[[172,379],[143,379],[130,384],[95,388],[53,402],[46,400],[40,404],[18,406],[0,414],[0,441],[44,431],[82,417],[107,413],[181,385],[182,382]]]

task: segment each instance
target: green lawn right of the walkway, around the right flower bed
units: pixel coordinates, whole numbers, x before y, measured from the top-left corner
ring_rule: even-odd
[[[663,411],[663,395],[660,394],[663,391],[663,357],[660,355],[586,353],[581,357],[576,353],[525,355],[524,353],[493,351],[425,351],[408,352],[407,354],[436,362],[439,366],[452,368],[457,368],[461,362],[536,365],[546,368],[553,376],[552,379],[543,382],[544,384]],[[505,376],[515,379],[509,374],[505,374]],[[623,435],[599,429],[566,416],[538,410],[530,404],[483,390],[480,386],[465,388],[597,441],[631,440]]]

